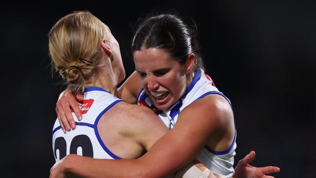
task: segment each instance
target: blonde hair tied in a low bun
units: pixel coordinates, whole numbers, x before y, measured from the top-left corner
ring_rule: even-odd
[[[105,25],[88,11],[59,19],[49,32],[49,51],[56,71],[68,87],[83,92],[96,70],[96,57],[105,39]]]

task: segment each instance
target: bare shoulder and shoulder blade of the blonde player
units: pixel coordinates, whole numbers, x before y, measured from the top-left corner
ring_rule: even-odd
[[[108,149],[125,159],[140,157],[168,130],[153,111],[126,102],[108,109],[97,126]]]

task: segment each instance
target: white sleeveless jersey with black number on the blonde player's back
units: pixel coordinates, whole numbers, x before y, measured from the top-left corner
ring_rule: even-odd
[[[82,122],[72,112],[76,129],[63,132],[58,118],[53,126],[53,153],[56,162],[69,154],[78,154],[96,159],[121,159],[107,149],[97,128],[101,116],[118,102],[114,95],[99,87],[85,89],[84,101],[78,103],[83,116]]]

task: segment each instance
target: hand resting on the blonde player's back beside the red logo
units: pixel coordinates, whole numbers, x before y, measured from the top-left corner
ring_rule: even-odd
[[[71,89],[66,89],[60,94],[59,99],[56,103],[56,113],[57,113],[59,123],[65,133],[66,133],[66,130],[70,131],[70,128],[71,129],[76,128],[76,124],[71,114],[71,110],[70,110],[71,108],[73,109],[75,115],[77,116],[78,121],[81,121],[82,114],[78,105],[78,101],[81,102],[82,100],[83,100],[83,95],[77,94],[75,96],[72,93]]]

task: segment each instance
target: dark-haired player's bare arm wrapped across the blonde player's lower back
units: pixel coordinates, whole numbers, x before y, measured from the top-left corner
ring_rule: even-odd
[[[205,145],[209,136],[216,131],[217,108],[212,108],[215,110],[210,113],[210,107],[214,107],[211,102],[200,99],[184,109],[176,126],[139,159],[94,160],[69,155],[52,168],[51,178],[59,178],[57,175],[61,174],[60,172],[95,178],[161,178],[173,173],[189,163]],[[199,122],[196,122],[197,119]],[[88,175],[87,170],[93,170],[92,174]]]

